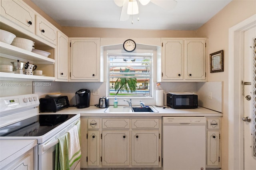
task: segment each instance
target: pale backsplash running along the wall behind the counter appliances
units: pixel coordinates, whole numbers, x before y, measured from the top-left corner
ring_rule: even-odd
[[[34,86],[34,83],[41,85]],[[68,96],[70,105],[76,105],[75,93],[79,89],[91,91],[90,105],[98,104],[99,98],[106,96],[107,90],[106,82],[1,81],[0,84],[1,97],[37,93],[38,97],[42,98],[48,93],[58,92]],[[161,82],[160,87],[164,90],[164,105],[166,105],[166,93],[168,92],[195,92],[198,95],[199,106],[222,113],[222,82]],[[93,95],[93,89],[99,89],[99,95]],[[210,92],[212,99],[209,99]],[[155,95],[156,91],[154,90],[153,96]],[[139,105],[140,100],[143,100],[146,105],[156,105],[155,97],[132,99],[132,105]],[[110,99],[110,105],[113,105],[113,102],[114,99]],[[127,105],[127,103],[123,99],[119,99],[118,105]]]

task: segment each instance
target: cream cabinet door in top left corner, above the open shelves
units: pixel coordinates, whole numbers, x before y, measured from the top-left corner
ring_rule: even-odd
[[[35,33],[35,13],[26,4],[18,0],[1,0],[1,16]]]

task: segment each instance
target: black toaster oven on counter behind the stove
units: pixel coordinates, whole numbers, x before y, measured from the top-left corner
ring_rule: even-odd
[[[44,97],[40,99],[41,112],[56,112],[69,107],[68,96]]]

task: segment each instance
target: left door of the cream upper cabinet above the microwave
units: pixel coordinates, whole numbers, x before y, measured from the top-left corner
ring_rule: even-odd
[[[183,40],[162,40],[162,80],[183,79]]]

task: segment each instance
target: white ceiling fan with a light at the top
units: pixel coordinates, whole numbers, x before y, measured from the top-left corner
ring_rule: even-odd
[[[143,6],[152,2],[166,10],[173,9],[177,4],[176,0],[114,0],[114,2],[117,6],[122,7],[120,21],[126,21],[129,19],[130,15],[135,15],[139,13],[138,2],[140,2],[140,4],[142,4]]]

